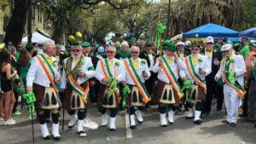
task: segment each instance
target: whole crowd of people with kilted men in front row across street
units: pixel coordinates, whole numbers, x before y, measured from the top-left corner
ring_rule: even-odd
[[[236,127],[243,101],[239,116],[256,127],[256,41],[241,37],[241,43],[216,42],[209,36],[204,42],[165,40],[163,50],[154,43],[125,40],[66,47],[48,41],[41,49],[37,43],[22,49],[19,43],[1,49],[2,124],[15,124],[12,115],[21,114],[18,104],[26,107],[20,95],[33,92],[45,140],[50,139],[50,116],[53,139],[61,139],[60,107],[70,115],[68,129],[77,124],[80,137],[87,135],[84,127],[97,129],[98,124],[86,116],[90,104],[98,107],[101,125],[109,125],[110,131],[116,130],[116,115],[123,110],[129,113],[130,128],[136,129],[150,105],[158,105],[162,127],[174,124],[174,115],[182,110],[186,119],[202,124],[201,118],[211,115],[214,100],[216,111],[227,112],[222,123]]]

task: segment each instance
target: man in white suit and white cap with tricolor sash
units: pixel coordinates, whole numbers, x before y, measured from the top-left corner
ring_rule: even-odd
[[[224,44],[221,51],[224,53],[224,58],[214,79],[218,81],[222,78],[224,81],[224,102],[228,117],[223,123],[236,127],[239,99],[245,95],[243,75],[246,72],[246,66],[241,55],[233,53],[232,44]]]

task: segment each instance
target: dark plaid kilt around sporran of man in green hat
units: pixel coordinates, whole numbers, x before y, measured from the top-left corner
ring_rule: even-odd
[[[155,95],[157,104],[160,104],[160,98],[164,92],[165,84],[166,84],[166,82],[163,82],[161,80],[157,81],[157,89],[156,89],[156,95]],[[177,104],[179,104],[181,102],[181,100],[178,98],[177,92],[174,89],[173,89],[173,94],[174,94],[175,102]]]

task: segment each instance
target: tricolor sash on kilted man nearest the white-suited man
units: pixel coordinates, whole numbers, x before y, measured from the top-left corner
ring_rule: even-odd
[[[190,74],[190,76],[193,78],[193,80],[195,81],[196,84],[199,84],[203,89],[205,94],[207,93],[207,84],[206,81],[202,80],[197,73],[195,72],[195,67],[193,65],[193,62],[191,60],[191,55],[185,57],[185,65],[188,69],[188,72]]]

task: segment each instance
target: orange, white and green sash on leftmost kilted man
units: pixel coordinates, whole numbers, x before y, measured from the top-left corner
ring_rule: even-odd
[[[52,67],[49,65],[49,62],[46,60],[44,55],[37,55],[36,60],[38,60],[40,66],[42,66],[44,73],[46,74],[50,85],[52,86],[53,89],[55,89],[56,95],[59,95],[59,90],[55,85],[55,72],[53,71]],[[46,63],[46,65],[45,65]]]

